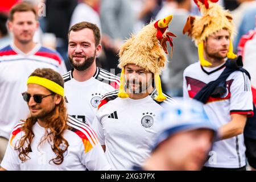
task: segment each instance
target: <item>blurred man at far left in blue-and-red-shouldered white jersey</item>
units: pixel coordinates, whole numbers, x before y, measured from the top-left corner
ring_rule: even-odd
[[[14,5],[7,26],[13,34],[13,43],[0,49],[0,162],[15,122],[29,113],[19,96],[26,90],[27,77],[36,68],[67,72],[59,53],[33,41],[39,23],[32,5],[26,2]]]

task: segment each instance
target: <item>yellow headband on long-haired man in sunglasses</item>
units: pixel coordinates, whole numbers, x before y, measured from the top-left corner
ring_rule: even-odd
[[[27,84],[38,84],[38,85],[44,86],[45,88],[51,90],[52,92],[64,97],[64,88],[59,84],[56,84],[56,82],[48,80],[47,78],[31,76],[28,78]]]

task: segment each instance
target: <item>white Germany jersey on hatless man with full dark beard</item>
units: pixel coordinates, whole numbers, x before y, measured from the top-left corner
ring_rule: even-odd
[[[119,77],[104,69],[97,68],[89,80],[80,82],[72,76],[72,71],[63,75],[64,93],[68,114],[82,122],[92,123],[98,104],[104,94],[119,88]]]

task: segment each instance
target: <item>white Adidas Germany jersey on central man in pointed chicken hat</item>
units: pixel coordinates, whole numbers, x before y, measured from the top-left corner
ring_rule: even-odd
[[[118,90],[102,97],[93,129],[106,146],[106,158],[113,170],[141,166],[150,156],[152,138],[162,110],[153,92],[140,100],[117,97]],[[167,98],[165,102],[173,102]]]

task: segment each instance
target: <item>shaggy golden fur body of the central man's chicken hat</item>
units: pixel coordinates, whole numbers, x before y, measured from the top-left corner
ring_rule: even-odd
[[[159,45],[154,22],[143,27],[138,35],[132,35],[119,51],[119,68],[126,64],[135,64],[152,73],[161,73],[167,57]]]

